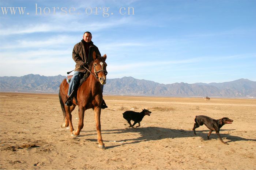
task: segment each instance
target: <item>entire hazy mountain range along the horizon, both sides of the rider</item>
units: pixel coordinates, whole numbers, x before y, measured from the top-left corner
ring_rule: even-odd
[[[0,90],[5,92],[58,93],[65,76],[0,77]],[[256,82],[239,79],[224,83],[160,84],[132,77],[107,79],[105,95],[172,96],[172,97],[256,97]]]

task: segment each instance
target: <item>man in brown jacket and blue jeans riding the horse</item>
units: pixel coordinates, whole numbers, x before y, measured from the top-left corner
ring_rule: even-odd
[[[72,101],[76,95],[77,88],[80,83],[81,76],[87,72],[86,68],[89,68],[90,63],[93,61],[93,52],[101,56],[98,47],[93,44],[92,35],[89,31],[84,32],[83,39],[77,43],[72,52],[72,58],[76,62],[74,75],[69,83],[68,99],[65,102],[67,106],[72,106]],[[86,68],[84,68],[86,67]],[[101,86],[103,92],[103,85]],[[107,108],[105,101],[102,100],[101,108]]]

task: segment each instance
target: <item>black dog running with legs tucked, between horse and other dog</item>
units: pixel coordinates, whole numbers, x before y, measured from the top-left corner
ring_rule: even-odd
[[[147,109],[142,109],[142,112],[135,112],[135,111],[125,111],[123,113],[123,117],[127,120],[127,122],[130,124],[130,127],[133,127],[136,123],[139,123],[139,126],[136,127],[140,127],[140,122],[142,121],[143,117],[145,115],[150,116],[151,111],[148,111]],[[133,124],[131,124],[131,120],[134,121]]]

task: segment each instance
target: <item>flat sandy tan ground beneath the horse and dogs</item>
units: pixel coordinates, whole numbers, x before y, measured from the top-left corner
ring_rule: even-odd
[[[56,94],[0,94],[1,169],[256,169],[256,100],[104,96],[97,147],[94,112],[87,110],[76,138],[62,129]],[[141,127],[127,128],[122,113],[147,108]],[[78,108],[73,112],[74,127]],[[192,128],[196,115],[229,117],[215,132]]]

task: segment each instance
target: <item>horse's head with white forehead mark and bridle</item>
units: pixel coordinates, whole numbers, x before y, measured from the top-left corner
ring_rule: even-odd
[[[107,55],[104,54],[103,56],[97,55],[96,52],[93,52],[93,68],[92,71],[99,82],[103,85],[106,84],[106,75],[108,74],[106,67],[106,59]]]

